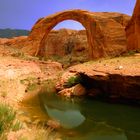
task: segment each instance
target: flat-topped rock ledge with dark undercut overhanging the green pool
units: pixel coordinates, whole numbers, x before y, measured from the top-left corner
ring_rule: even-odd
[[[67,97],[140,100],[140,55],[98,60],[70,67],[56,84]]]

